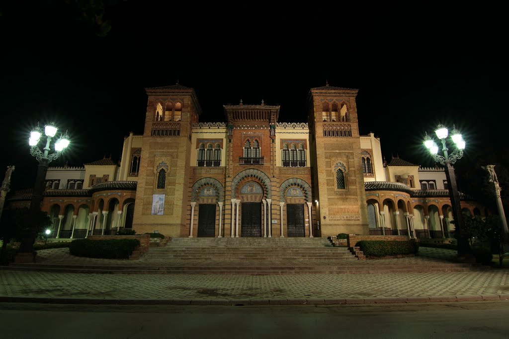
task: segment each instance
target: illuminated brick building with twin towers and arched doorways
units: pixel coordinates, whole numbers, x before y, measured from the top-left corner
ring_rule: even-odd
[[[307,122],[278,122],[279,106],[224,105],[200,122],[192,88],[146,88],[143,135],[119,163],[50,167],[42,209],[56,238],[157,231],[171,237],[328,237],[338,233],[450,237],[443,168],[382,158],[359,135],[357,89],[311,88]],[[11,203],[30,203],[18,192]],[[484,210],[461,194],[471,215]]]

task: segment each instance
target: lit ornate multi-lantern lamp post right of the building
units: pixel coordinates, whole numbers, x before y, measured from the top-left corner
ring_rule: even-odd
[[[442,143],[443,156],[438,154],[438,146],[435,141],[426,133],[424,144],[429,149],[431,156],[436,163],[439,163],[445,168],[445,177],[449,186],[449,199],[453,207],[453,218],[456,221],[456,238],[458,239],[458,259],[465,260],[466,256],[470,255],[470,246],[468,239],[465,236],[465,227],[463,223],[463,215],[461,214],[460,194],[458,193],[458,184],[456,182],[456,175],[454,173],[453,165],[458,159],[463,157],[463,150],[465,149],[465,140],[463,140],[461,133],[453,125],[451,131],[451,139],[456,148],[453,152],[449,153],[445,139],[449,134],[447,127],[439,124],[435,129],[437,138]]]

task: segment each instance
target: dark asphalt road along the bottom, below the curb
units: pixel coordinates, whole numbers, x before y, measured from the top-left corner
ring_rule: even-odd
[[[509,301],[334,306],[0,303],[4,338],[509,338]]]

